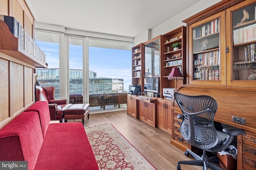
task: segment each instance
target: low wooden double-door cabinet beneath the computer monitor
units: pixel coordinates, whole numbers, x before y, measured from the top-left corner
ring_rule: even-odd
[[[156,127],[155,100],[148,100],[136,97],[138,119]]]

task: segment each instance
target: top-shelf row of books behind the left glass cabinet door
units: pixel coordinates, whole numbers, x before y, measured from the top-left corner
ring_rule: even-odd
[[[220,31],[220,18],[212,20],[202,26],[193,29],[193,39],[203,37]]]

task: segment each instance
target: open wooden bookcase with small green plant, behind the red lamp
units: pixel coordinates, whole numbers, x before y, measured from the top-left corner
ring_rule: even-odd
[[[174,51],[172,44],[178,43],[179,49]],[[160,94],[163,98],[163,88],[174,88],[174,80],[168,80],[173,67],[180,68],[184,80],[177,81],[177,88],[186,84],[186,27],[178,27],[162,35],[161,45],[161,79]]]

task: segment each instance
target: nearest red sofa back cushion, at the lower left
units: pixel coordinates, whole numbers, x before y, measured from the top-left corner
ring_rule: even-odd
[[[28,170],[33,170],[42,143],[38,113],[23,112],[0,130],[0,160],[26,160]]]

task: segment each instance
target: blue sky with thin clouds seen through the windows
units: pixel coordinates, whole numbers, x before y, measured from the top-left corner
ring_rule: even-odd
[[[36,41],[46,53],[48,68],[59,68],[59,44]],[[70,45],[70,69],[82,70],[82,46]],[[132,52],[128,50],[89,47],[89,70],[97,77],[123,78],[124,90],[132,83]]]

